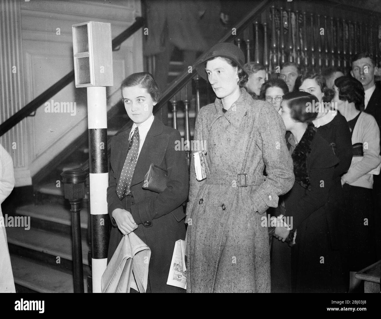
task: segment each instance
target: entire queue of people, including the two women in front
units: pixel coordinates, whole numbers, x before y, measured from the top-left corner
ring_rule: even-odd
[[[350,76],[287,63],[266,81],[263,66],[244,60],[218,43],[197,65],[216,99],[195,121],[203,160],[192,157],[190,180],[179,132],[152,115],[152,75],[123,81],[133,125],[111,145],[109,260],[134,231],[151,248],[147,292],[185,291],[166,284],[185,238],[187,292],[358,292],[354,274],[381,257],[375,61],[357,54]],[[163,191],[142,187],[151,164],[167,172]]]

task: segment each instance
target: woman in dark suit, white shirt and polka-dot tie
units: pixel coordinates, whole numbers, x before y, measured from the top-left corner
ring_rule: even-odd
[[[188,196],[189,177],[185,154],[175,148],[181,136],[179,131],[166,127],[153,116],[159,91],[149,73],[130,75],[123,81],[121,90],[127,114],[134,123],[111,143],[107,204],[113,227],[108,261],[122,236],[134,231],[151,249],[147,292],[185,292],[166,284],[174,244],[185,238],[181,204]],[[131,163],[136,164],[128,166]],[[162,193],[142,188],[150,164],[168,172],[167,187]]]

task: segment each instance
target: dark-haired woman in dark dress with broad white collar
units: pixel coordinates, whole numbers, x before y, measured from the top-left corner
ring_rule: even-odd
[[[327,222],[330,228],[331,249],[333,258],[341,260],[342,269],[337,269],[334,278],[334,285],[337,287],[335,292],[345,292],[347,289],[347,276],[345,268],[347,265],[346,247],[347,233],[346,225],[343,223],[346,217],[344,192],[341,187],[341,176],[346,173],[352,161],[352,140],[349,125],[337,108],[330,103],[334,92],[326,84],[325,77],[317,73],[306,72],[301,76],[299,91],[314,94],[319,100],[319,113],[313,121],[319,134],[331,146],[333,152],[339,159],[333,172],[334,184],[330,190],[327,202]]]

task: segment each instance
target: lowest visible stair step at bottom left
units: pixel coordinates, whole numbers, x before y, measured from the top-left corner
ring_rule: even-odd
[[[72,274],[53,269],[26,257],[11,254],[14,283],[35,292],[74,292]],[[87,279],[84,276],[83,286],[87,292]]]

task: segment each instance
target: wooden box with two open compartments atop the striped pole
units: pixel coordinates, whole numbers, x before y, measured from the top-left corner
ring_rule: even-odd
[[[113,86],[111,25],[89,21],[72,31],[75,87]]]

